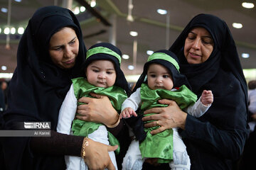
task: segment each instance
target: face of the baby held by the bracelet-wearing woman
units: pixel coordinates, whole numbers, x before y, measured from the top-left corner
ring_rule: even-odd
[[[114,64],[109,60],[96,60],[86,69],[87,81],[98,87],[110,87],[114,85],[117,74]]]

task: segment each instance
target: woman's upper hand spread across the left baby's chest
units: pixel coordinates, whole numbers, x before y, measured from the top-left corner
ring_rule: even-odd
[[[90,94],[96,98],[82,97],[78,101],[86,103],[78,106],[76,118],[95,123],[103,123],[109,128],[114,128],[119,123],[119,115],[113,108],[107,96]]]

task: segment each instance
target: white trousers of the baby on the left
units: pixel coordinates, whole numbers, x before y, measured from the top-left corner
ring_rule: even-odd
[[[95,130],[95,132],[89,134],[88,138],[90,138],[91,140],[95,140],[97,142],[101,142],[105,145],[110,145],[110,142],[107,137],[107,128],[105,127],[105,125],[101,125],[97,130]],[[117,169],[117,162],[114,156],[114,151],[109,152],[109,154],[115,169]],[[88,170],[88,166],[85,164],[85,161],[81,157],[66,155],[65,163],[68,170]]]

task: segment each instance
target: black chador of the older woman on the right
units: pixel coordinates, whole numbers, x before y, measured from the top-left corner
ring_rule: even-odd
[[[212,36],[213,52],[206,62],[188,64],[183,54],[184,43],[189,31],[197,27],[205,28]],[[199,14],[188,23],[169,50],[181,61],[181,73],[188,78],[192,91],[200,96],[207,89],[213,91],[214,96],[210,109],[198,118],[200,121],[188,115],[186,130],[181,133],[191,157],[191,169],[231,169],[249,131],[247,85],[227,24],[216,16]],[[188,129],[195,130],[196,126],[203,129],[196,132],[201,137],[192,139]]]

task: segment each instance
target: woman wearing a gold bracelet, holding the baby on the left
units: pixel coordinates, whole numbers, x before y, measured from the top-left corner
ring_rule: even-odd
[[[2,128],[16,129],[18,122],[50,122],[51,137],[2,137],[6,169],[65,169],[64,155],[80,156],[81,151],[90,169],[114,169],[107,151],[117,146],[55,132],[58,111],[70,79],[79,76],[85,52],[80,24],[70,10],[48,6],[34,13],[18,45]],[[82,120],[116,126],[119,116],[107,97],[80,101],[88,103],[78,108],[85,115]]]

